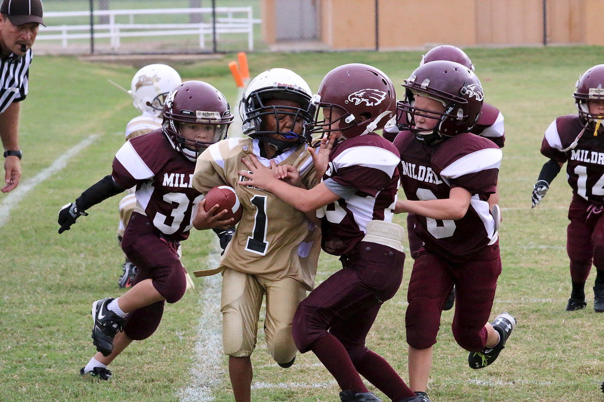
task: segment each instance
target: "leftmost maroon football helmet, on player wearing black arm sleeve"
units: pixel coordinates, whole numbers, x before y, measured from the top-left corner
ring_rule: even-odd
[[[193,161],[205,148],[225,138],[233,122],[225,96],[203,81],[178,84],[165,99],[163,116],[162,127],[170,144]],[[215,125],[214,137],[210,142],[188,139],[180,134],[179,122]]]

